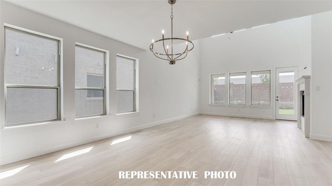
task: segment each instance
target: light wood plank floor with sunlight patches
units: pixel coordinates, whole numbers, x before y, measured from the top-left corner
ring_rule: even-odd
[[[304,138],[296,122],[197,115],[0,168],[1,176],[20,170],[1,179],[3,186],[331,185],[331,161],[332,143]],[[202,175],[118,179],[120,170]],[[204,179],[205,170],[232,170],[237,176]]]

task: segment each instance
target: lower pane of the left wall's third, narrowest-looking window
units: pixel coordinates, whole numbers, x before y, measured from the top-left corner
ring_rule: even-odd
[[[134,91],[117,91],[117,112],[134,111]]]

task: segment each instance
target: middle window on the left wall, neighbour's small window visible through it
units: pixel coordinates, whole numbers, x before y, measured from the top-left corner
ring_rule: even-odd
[[[106,52],[75,47],[75,116],[106,114]]]

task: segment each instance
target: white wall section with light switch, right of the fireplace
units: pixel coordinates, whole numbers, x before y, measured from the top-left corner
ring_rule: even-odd
[[[332,141],[332,11],[312,15],[311,32],[310,138]]]

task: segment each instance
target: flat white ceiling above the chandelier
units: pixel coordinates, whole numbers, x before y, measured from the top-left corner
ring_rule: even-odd
[[[167,0],[6,1],[144,50],[160,39],[162,29],[170,36]],[[178,0],[173,36],[185,37],[189,30],[195,40],[330,10],[332,1]]]

